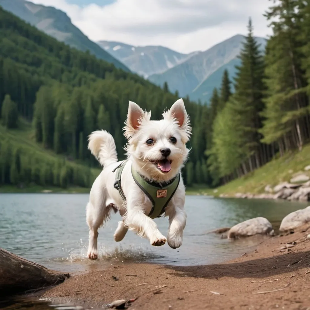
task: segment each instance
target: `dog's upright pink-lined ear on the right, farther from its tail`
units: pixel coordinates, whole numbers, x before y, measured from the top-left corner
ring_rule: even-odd
[[[190,126],[189,117],[185,110],[184,101],[182,98],[175,101],[171,108],[163,113],[163,117],[165,119],[172,119],[177,122],[180,129],[184,131],[187,137],[187,141],[189,140],[189,135],[191,135],[192,128]]]

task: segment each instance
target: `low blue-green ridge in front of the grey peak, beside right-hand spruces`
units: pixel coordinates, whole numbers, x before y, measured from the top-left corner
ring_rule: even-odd
[[[201,100],[202,103],[209,102],[213,89],[219,88],[222,82],[223,73],[225,69],[228,71],[229,79],[232,81],[232,78],[236,74],[235,66],[240,65],[240,60],[234,58],[229,61],[228,64],[224,64],[222,67],[213,72],[208,78],[206,78],[192,93],[189,94],[189,98],[193,101]],[[231,89],[233,91],[233,85],[231,84]]]

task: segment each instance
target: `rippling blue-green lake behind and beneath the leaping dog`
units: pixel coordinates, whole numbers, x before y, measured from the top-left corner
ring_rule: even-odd
[[[122,242],[113,240],[120,215],[112,216],[99,229],[99,259],[86,258],[88,227],[85,208],[88,194],[0,194],[0,247],[41,263],[48,268],[80,272],[95,266],[120,262],[153,262],[197,265],[222,262],[242,255],[261,239],[229,241],[210,230],[231,227],[256,216],[266,217],[274,228],[288,213],[308,206],[285,200],[220,199],[187,196],[187,225],[183,245],[153,247],[149,241],[128,232]],[[166,235],[168,218],[155,220]]]

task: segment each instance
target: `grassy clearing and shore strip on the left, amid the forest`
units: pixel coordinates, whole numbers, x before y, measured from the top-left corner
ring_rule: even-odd
[[[71,168],[83,168],[89,169],[91,172],[91,179],[99,175],[100,169],[98,168],[89,168],[85,165],[84,162],[79,162],[75,160],[74,162],[64,156],[57,155],[52,150],[43,148],[43,146],[35,141],[34,131],[32,125],[24,120],[23,118],[19,119],[19,128],[10,129],[3,127],[0,124],[0,144],[4,140],[9,140],[11,146],[14,148],[19,148],[22,154],[35,154],[36,158],[42,159],[43,162],[53,163],[61,162],[63,165],[70,166]],[[79,187],[79,186],[70,186],[68,188],[60,188],[55,186],[40,186],[34,183],[23,184],[22,187],[1,184],[0,183],[0,193],[38,193],[38,192],[57,192],[57,193],[88,193],[89,188]]]

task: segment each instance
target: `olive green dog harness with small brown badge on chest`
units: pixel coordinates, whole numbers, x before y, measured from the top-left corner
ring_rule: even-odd
[[[124,201],[126,201],[126,197],[122,190],[122,171],[125,167],[126,162],[126,160],[121,162],[116,168],[113,169],[113,172],[116,171],[114,188],[118,190]],[[141,188],[141,190],[145,193],[146,196],[148,196],[148,198],[152,202],[152,209],[148,216],[151,219],[160,217],[165,212],[166,206],[168,205],[169,201],[171,200],[179,186],[180,174],[178,173],[174,179],[172,179],[169,183],[166,183],[163,186],[156,182],[146,181],[136,170],[133,169],[132,166],[131,174],[135,180],[135,183],[139,186],[139,188]]]

